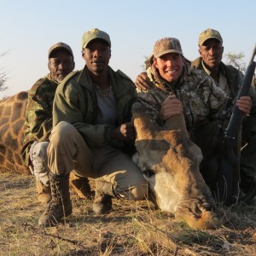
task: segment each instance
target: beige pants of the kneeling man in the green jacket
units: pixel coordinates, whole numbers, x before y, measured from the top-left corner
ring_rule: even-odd
[[[112,183],[114,192],[131,200],[143,200],[147,182],[131,157],[111,146],[91,149],[73,125],[61,122],[49,137],[47,150],[50,172],[99,178]]]

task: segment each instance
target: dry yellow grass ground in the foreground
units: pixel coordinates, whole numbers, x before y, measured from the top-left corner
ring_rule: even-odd
[[[148,201],[114,201],[96,216],[92,201],[73,199],[73,215],[38,226],[44,211],[34,177],[0,173],[0,255],[256,255],[256,207],[221,209],[224,226],[190,230]]]

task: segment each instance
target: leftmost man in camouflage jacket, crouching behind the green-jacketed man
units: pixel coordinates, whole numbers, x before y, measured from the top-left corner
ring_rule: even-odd
[[[26,166],[29,166],[36,177],[38,201],[43,203],[48,203],[51,199],[46,150],[52,130],[55,90],[75,66],[72,49],[61,42],[49,48],[48,60],[49,74],[38,79],[28,92],[25,138],[21,149]],[[70,186],[81,198],[90,195],[90,185],[84,177],[76,177],[73,174]]]

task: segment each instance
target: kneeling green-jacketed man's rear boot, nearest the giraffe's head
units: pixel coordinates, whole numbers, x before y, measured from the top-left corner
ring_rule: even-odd
[[[95,200],[92,210],[96,214],[105,214],[112,209],[113,185],[96,180]]]

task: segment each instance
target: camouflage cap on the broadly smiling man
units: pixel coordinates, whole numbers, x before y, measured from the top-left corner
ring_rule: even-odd
[[[161,38],[154,44],[154,58],[158,58],[161,55],[167,53],[178,53],[183,55],[181,45],[177,38]]]

